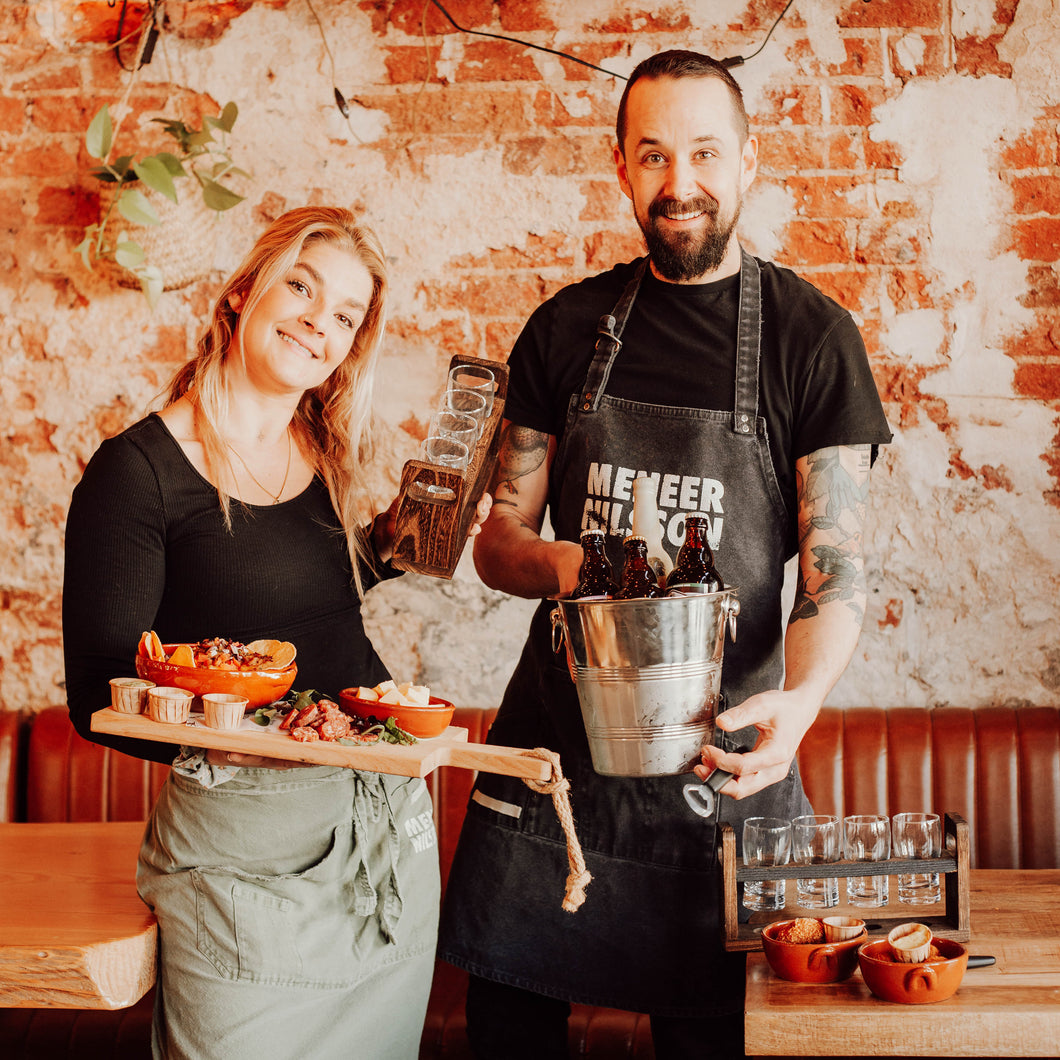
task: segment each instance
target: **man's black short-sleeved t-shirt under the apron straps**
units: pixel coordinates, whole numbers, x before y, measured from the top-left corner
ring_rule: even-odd
[[[597,325],[613,312],[636,262],[564,287],[527,321],[509,359],[505,416],[563,436],[582,389]],[[865,344],[850,314],[790,269],[760,262],[759,412],[794,511],[795,461],[831,445],[890,440]],[[740,277],[675,284],[649,269],[623,332],[606,392],[648,404],[731,411]]]

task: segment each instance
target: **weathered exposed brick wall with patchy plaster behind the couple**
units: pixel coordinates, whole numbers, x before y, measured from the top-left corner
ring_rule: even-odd
[[[668,47],[749,55],[783,6],[446,3],[465,28],[622,74]],[[392,258],[381,499],[454,353],[502,359],[543,298],[641,252],[611,159],[617,78],[460,33],[422,0],[313,0],[333,81],[305,0],[167,0],[124,149],[149,142],[152,117],[234,100],[253,180],[210,278],[151,313],[73,252],[98,212],[84,130],[129,77],[107,47],[120,7],[0,0],[5,709],[63,699],[63,522],[85,462],[187,356],[270,217],[351,205]],[[143,8],[129,4],[126,32]],[[873,482],[873,601],[837,702],[1060,699],[1060,15],[1048,0],[964,8],[800,0],[735,71],[761,141],[743,237],[855,314],[898,436]],[[526,608],[465,566],[453,583],[387,586],[369,614],[401,676],[484,704]]]

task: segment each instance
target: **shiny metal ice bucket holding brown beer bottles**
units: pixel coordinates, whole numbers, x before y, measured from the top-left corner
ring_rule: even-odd
[[[555,600],[552,650],[567,650],[593,768],[604,776],[688,773],[714,735],[735,588],[655,600]]]

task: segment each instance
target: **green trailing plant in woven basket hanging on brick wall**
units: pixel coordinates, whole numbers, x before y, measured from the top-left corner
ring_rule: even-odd
[[[120,283],[143,289],[152,307],[163,290],[206,275],[216,237],[212,222],[243,201],[224,181],[248,177],[229,154],[237,114],[228,103],[218,116],[205,116],[199,128],[152,119],[172,137],[173,151],[108,162],[113,123],[110,108],[100,108],[85,135],[89,155],[102,162],[92,176],[104,186],[100,222],[86,226],[77,245],[86,267],[116,270]]]

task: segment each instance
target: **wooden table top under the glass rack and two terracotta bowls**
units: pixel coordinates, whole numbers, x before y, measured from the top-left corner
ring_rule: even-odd
[[[845,983],[787,983],[761,953],[747,958],[747,1056],[1055,1057],[1060,1043],[1060,870],[972,869],[971,954],[996,964],[965,973],[930,1005]]]

